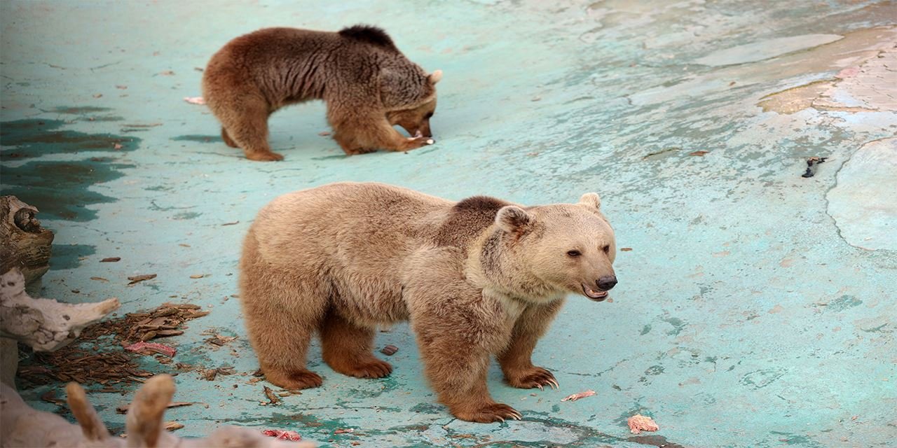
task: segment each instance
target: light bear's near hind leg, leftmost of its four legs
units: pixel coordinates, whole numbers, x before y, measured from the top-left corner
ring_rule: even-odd
[[[258,253],[252,230],[240,258],[240,302],[249,340],[269,383],[306,389],[323,383],[305,366],[312,333],[327,310],[327,292],[315,280],[281,271]]]

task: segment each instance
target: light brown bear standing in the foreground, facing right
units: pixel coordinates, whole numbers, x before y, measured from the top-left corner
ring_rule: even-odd
[[[576,204],[451,202],[401,187],[340,183],[284,194],[259,211],[240,260],[240,297],[266,379],[321,385],[305,365],[312,333],[336,372],[392,366],[371,350],[378,325],[410,320],[426,375],[457,418],[520,418],[492,400],[498,358],[508,383],[556,386],[533,366],[536,341],[568,293],[605,300],[614,230],[597,194]]]

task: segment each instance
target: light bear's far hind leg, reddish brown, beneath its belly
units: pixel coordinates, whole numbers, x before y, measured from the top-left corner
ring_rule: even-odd
[[[382,378],[392,373],[386,361],[374,358],[374,330],[349,322],[331,308],[321,322],[324,361],[335,371],[359,378]]]

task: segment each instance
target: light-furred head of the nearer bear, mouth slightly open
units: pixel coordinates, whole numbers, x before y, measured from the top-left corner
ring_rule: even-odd
[[[617,282],[615,255],[601,199],[588,193],[576,204],[502,207],[480,264],[487,279],[515,297],[538,302],[571,292],[600,302]]]

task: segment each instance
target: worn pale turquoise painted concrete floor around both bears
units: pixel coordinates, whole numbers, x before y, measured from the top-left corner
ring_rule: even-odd
[[[614,302],[570,297],[536,349],[560,391],[510,388],[493,367],[493,395],[523,421],[451,418],[400,325],[378,340],[400,348],[392,376],[337,375],[316,348],[325,385],[279,407],[259,406],[263,383],[179,375],[175,400],[209,405],[170,410],[180,435],[239,424],[333,447],[897,440],[893,2],[13,1],[0,15],[3,194],[39,207],[57,233],[42,295],[212,309],[169,340],[179,362],[257,368],[229,299],[239,241],[262,205],[300,188],[376,180],[527,204],[597,191],[631,248],[617,257]],[[445,72],[436,145],[346,158],[318,135],[318,103],[275,115],[286,160],[253,163],[183,100],[232,37],[356,22]],[[812,156],[829,159],[800,177]],[[107,256],[122,260],[98,263]],[[210,349],[210,329],[238,336],[237,354]],[[585,389],[597,395],[561,401]],[[45,391],[23,395],[55,409]],[[118,429],[114,408],[128,400],[93,395]],[[660,431],[630,435],[636,412]]]

